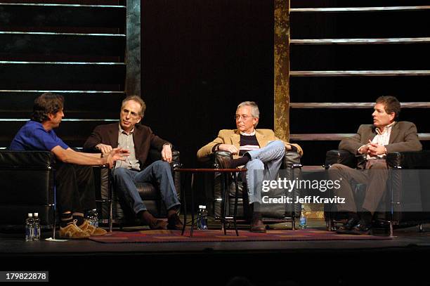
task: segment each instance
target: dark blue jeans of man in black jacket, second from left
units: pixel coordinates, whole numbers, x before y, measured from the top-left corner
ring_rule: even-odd
[[[113,171],[113,178],[115,187],[124,194],[135,214],[146,210],[135,183],[154,183],[159,188],[167,209],[181,205],[167,162],[155,161],[143,171],[116,168]]]

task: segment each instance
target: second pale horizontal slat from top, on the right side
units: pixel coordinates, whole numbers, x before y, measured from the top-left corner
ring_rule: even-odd
[[[373,39],[290,39],[290,44],[320,45],[320,44],[413,44],[430,43],[430,37],[417,38],[373,38]]]

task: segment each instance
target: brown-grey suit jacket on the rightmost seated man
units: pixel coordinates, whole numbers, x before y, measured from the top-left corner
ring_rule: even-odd
[[[339,143],[339,149],[347,150],[359,157],[358,167],[363,164],[363,155],[357,152],[362,145],[369,143],[376,136],[376,127],[372,124],[363,124],[358,128],[357,134],[345,138]],[[417,126],[412,122],[396,122],[391,129],[389,144],[385,145],[386,152],[420,151],[422,145],[419,142]],[[361,159],[361,160],[360,160]]]

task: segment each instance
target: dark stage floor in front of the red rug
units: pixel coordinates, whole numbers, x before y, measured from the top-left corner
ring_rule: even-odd
[[[323,228],[323,222],[311,227]],[[103,244],[25,242],[20,233],[1,233],[0,271],[49,271],[54,284],[72,271],[109,285],[136,279],[150,285],[228,285],[237,276],[250,285],[430,285],[430,233],[414,227],[394,235],[367,241]]]

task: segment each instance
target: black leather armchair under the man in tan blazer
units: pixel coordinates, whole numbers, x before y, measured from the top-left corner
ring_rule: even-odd
[[[232,157],[230,152],[219,151],[215,152],[209,162],[205,164],[207,167],[216,167],[219,162],[219,157]],[[285,169],[287,178],[297,178],[301,172],[300,164],[301,155],[298,152],[286,152],[282,166],[280,169]],[[207,176],[204,180],[205,184],[205,200],[209,216],[214,216],[215,219],[221,217],[221,174],[216,173],[215,176]],[[235,202],[235,183],[230,180],[228,188],[228,202],[226,202],[227,214],[226,217],[233,216]],[[246,184],[239,182],[239,195],[237,207],[237,219],[240,221],[249,221],[249,200]],[[296,192],[285,194],[284,191],[273,190],[273,193],[265,193],[269,197],[281,197],[287,195],[295,197]],[[245,207],[244,207],[245,206]],[[295,228],[295,219],[300,216],[301,204],[261,204],[261,215],[264,223],[276,223],[281,221],[292,221],[292,226]]]

